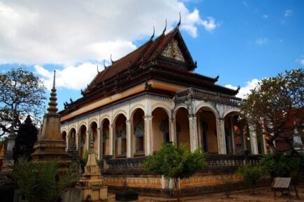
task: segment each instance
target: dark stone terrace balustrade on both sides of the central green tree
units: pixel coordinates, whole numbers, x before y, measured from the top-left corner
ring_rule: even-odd
[[[261,159],[261,155],[206,155],[208,169],[218,167],[237,167],[242,164],[255,165]],[[103,170],[142,170],[145,157],[131,157],[123,159],[108,159]]]

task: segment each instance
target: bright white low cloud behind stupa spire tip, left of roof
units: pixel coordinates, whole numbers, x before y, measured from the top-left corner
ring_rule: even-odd
[[[53,72],[46,70],[41,65],[34,66],[36,74],[42,78],[45,86],[52,88]],[[99,71],[103,67],[99,65]],[[56,87],[64,87],[74,90],[84,89],[97,75],[97,66],[93,63],[82,63],[77,66],[67,66],[63,70],[56,70]]]

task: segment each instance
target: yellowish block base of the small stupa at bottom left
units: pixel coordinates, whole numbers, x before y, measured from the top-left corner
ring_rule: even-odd
[[[108,186],[101,185],[98,187],[79,187],[81,189],[81,201],[99,201],[108,198]]]

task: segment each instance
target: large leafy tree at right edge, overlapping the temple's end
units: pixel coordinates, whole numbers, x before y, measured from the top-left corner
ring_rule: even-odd
[[[290,137],[303,123],[303,69],[285,71],[276,77],[262,79],[259,86],[251,90],[241,107],[243,116],[266,135],[266,141],[276,153],[273,141],[284,139],[296,153]]]

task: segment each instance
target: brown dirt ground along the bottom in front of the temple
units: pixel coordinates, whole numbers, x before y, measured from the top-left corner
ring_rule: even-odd
[[[234,191],[231,192],[230,198],[227,199],[224,193],[217,194],[204,194],[202,196],[188,196],[180,198],[180,201],[250,201],[250,202],[296,202],[304,201],[304,184],[298,185],[298,194],[300,199],[296,199],[296,192],[291,190],[291,197],[287,193],[284,193],[283,196],[281,192],[277,192],[276,197],[274,197],[273,191],[270,190],[270,187],[262,187],[256,189],[256,194],[249,194],[249,190],[243,191]],[[115,194],[110,193],[107,201],[115,201]],[[138,201],[142,202],[165,202],[165,201],[177,201],[176,199],[163,199],[157,197],[147,197],[139,196]]]

